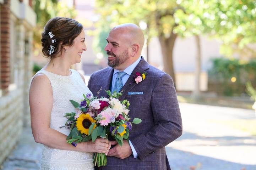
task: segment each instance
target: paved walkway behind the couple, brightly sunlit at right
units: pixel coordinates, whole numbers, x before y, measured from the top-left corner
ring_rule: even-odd
[[[166,147],[172,170],[256,170],[256,137],[217,120],[255,119],[247,109],[180,103],[183,135]],[[24,129],[4,170],[38,170],[42,145]]]

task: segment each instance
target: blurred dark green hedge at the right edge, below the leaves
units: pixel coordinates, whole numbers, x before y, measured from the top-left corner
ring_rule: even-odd
[[[239,95],[245,93],[247,81],[256,84],[256,60],[214,58],[209,70],[209,84],[217,86],[219,94]],[[233,81],[233,82],[232,82]]]

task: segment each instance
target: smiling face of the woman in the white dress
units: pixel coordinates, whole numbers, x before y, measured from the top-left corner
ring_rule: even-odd
[[[83,51],[86,51],[85,32],[82,32],[74,39],[73,45],[67,49],[71,63],[80,63]]]

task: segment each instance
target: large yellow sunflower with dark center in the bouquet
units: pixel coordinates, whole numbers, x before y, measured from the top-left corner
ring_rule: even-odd
[[[91,126],[92,123],[95,123],[96,120],[94,120],[88,113],[81,114],[79,118],[77,118],[76,121],[76,127],[77,130],[81,132],[81,134],[89,134],[89,127]],[[96,124],[94,125],[93,129],[96,128]]]

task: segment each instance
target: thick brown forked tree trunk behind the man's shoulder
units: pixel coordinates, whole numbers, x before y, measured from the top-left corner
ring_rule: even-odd
[[[177,34],[171,33],[169,38],[165,38],[164,35],[158,36],[161,51],[163,55],[163,64],[164,64],[164,72],[169,74],[171,78],[173,78],[173,83],[175,86],[175,74],[174,74],[174,67],[173,67],[173,48],[174,42],[177,38]]]

